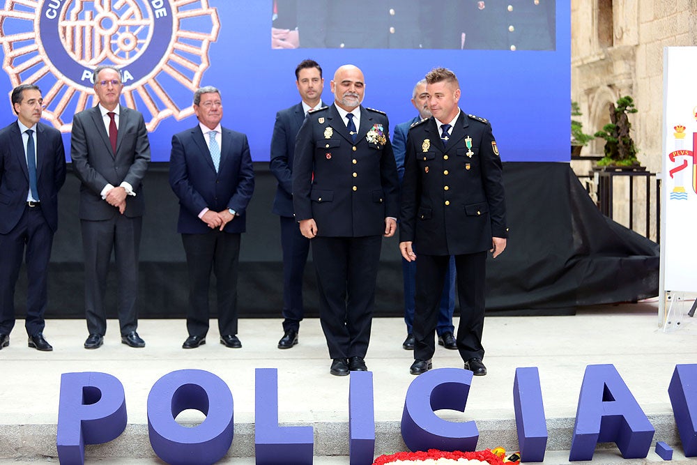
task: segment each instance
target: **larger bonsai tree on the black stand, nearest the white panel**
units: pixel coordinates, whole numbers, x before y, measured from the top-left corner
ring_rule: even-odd
[[[602,131],[595,133],[595,137],[605,139],[605,156],[598,162],[598,166],[631,167],[639,165],[636,159],[638,150],[629,135],[631,123],[629,113],[636,113],[634,100],[629,96],[620,97],[617,106],[609,105],[610,121],[604,125]]]

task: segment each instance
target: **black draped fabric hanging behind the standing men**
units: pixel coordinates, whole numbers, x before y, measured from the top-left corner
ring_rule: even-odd
[[[84,318],[84,268],[77,197],[70,174],[59,193],[59,230],[49,266],[47,318]],[[247,208],[240,250],[240,317],[279,320],[282,256],[279,220],[271,213],[276,180],[268,163],[255,163],[256,189]],[[508,246],[487,261],[487,312],[568,312],[579,305],[625,302],[658,294],[659,246],[604,217],[567,163],[504,163]],[[151,163],[144,180],[138,307],[140,318],[184,318],[187,273],[176,234],[177,199],[168,164]],[[312,260],[312,258],[310,259]],[[305,267],[305,314],[318,316],[314,266]],[[116,317],[114,270],[107,285],[107,316]],[[215,302],[215,296],[211,296]],[[26,310],[26,273],[15,295],[17,317]],[[376,317],[404,309],[397,238],[383,240],[376,287]],[[215,317],[213,305],[211,317]],[[47,328],[49,326],[47,325]]]

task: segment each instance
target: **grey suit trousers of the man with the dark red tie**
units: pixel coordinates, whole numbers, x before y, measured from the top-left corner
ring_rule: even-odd
[[[138,255],[142,217],[114,215],[109,220],[80,220],[85,259],[85,315],[90,334],[105,335],[107,311],[104,296],[112,259],[116,264],[118,324],[121,335],[138,327]]]

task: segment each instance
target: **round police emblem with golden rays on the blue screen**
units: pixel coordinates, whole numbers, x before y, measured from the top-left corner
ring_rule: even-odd
[[[49,89],[43,117],[69,132],[72,115],[96,105],[92,70],[116,66],[125,105],[141,110],[152,131],[169,116],[194,114],[191,94],[201,86],[208,47],[220,30],[208,3],[6,0],[0,10],[3,69],[13,86]]]

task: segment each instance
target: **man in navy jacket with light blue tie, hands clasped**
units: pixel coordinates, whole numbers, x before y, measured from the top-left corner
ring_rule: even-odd
[[[254,169],[247,136],[223,128],[220,91],[206,86],[194,93],[199,124],[172,137],[169,184],[179,198],[177,231],[189,270],[189,336],[183,349],[206,343],[210,271],[217,283],[220,344],[239,348],[237,273],[240,234],[254,192]]]

